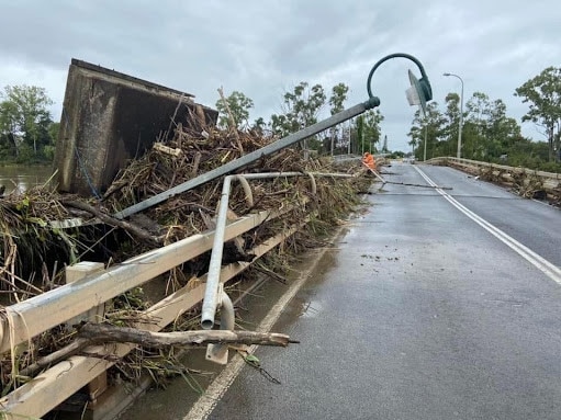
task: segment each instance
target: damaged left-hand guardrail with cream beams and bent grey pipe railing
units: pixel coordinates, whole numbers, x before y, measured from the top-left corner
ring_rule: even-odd
[[[352,177],[340,173],[310,174],[290,172],[247,174],[240,177],[240,179],[243,180],[242,185],[246,193],[246,200],[251,202],[251,189],[246,178],[302,175],[310,177],[312,193],[316,190],[314,175],[332,178]],[[233,179],[238,177],[239,175],[232,175],[227,178]],[[224,203],[221,204],[221,208],[224,207],[227,211],[227,200],[224,200],[224,195],[221,202]],[[278,211],[263,211],[239,217],[228,225],[226,225],[226,211],[224,211],[224,220],[217,222],[216,230],[194,235],[176,243],[152,250],[131,258],[113,268],[86,275],[83,279],[70,284],[5,307],[4,317],[0,318],[0,351],[13,351],[19,344],[29,342],[33,337],[48,331],[53,327],[68,322],[68,320],[103,305],[111,298],[142,285],[203,252],[213,249],[213,253],[216,252],[217,254],[214,247],[222,250],[225,241],[234,239],[266,220],[277,218],[290,212],[292,208],[294,207],[287,206]],[[220,213],[222,214],[222,212]],[[293,225],[285,231],[278,234],[273,238],[269,238],[262,245],[250,250],[249,252],[256,256],[254,261],[285,240],[289,236],[293,235],[306,222],[307,220],[304,220],[301,224]],[[218,232],[218,226],[221,225],[222,231]],[[217,245],[217,242],[220,243]],[[220,253],[220,256],[222,257],[222,253]],[[218,261],[218,263],[215,264],[217,271],[214,270],[212,275],[217,282],[215,287],[217,291],[222,291],[222,285],[225,282],[250,265],[250,262],[237,262],[222,266],[222,258],[218,260],[217,257],[215,257],[215,260]],[[206,275],[201,277],[201,282],[195,288],[186,286],[147,309],[144,315],[147,318],[154,319],[154,323],[143,322],[136,327],[139,329],[158,331],[177,319],[182,313],[198,305],[203,300],[205,291],[207,292],[210,288],[209,284],[205,283],[210,275],[211,270],[209,270]],[[227,299],[225,304],[227,304]],[[112,362],[112,360],[114,360],[114,357],[104,360],[103,355],[122,357],[134,348],[135,345],[126,343],[92,345],[86,349],[85,353],[97,354],[97,357],[76,355],[55,364],[29,383],[2,397],[0,399],[0,416],[14,419],[21,418],[22,416],[27,418],[44,416],[113,365],[114,362]]]

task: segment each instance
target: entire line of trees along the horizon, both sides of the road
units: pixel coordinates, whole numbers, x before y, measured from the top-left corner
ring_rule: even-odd
[[[216,102],[218,126],[255,130],[284,137],[315,124],[327,109],[332,115],[345,109],[349,88],[334,86],[327,97],[321,84],[302,81],[282,97],[281,112],[269,120],[249,121],[251,99],[234,91]],[[546,141],[534,141],[520,134],[516,120],[509,117],[501,99],[475,92],[463,110],[462,150],[468,159],[501,162],[561,172],[561,68],[548,67],[516,89],[515,95],[529,106],[523,122],[528,121],[543,133]],[[5,87],[0,93],[0,162],[52,161],[59,124],[48,112],[52,100],[43,88]],[[301,146],[319,154],[379,152],[383,121],[380,110],[370,110],[351,123],[343,123],[303,143]],[[445,109],[436,101],[426,115],[417,112],[408,136],[415,157],[427,159],[456,156],[460,122],[460,97],[449,93]],[[426,146],[425,146],[426,139]],[[389,150],[383,150],[389,151]]]

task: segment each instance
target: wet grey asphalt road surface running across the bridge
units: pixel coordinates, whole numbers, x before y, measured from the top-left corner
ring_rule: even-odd
[[[426,184],[416,166],[393,182]],[[557,266],[561,212],[449,168],[418,166]],[[368,196],[210,419],[561,419],[561,285],[433,189]]]

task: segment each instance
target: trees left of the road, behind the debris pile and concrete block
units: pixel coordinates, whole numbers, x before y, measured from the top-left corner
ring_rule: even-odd
[[[231,128],[235,125],[237,129],[283,137],[315,124],[327,105],[332,115],[343,111],[348,91],[346,84],[338,83],[327,98],[321,84],[300,82],[291,92],[283,94],[279,114],[271,115],[267,122],[259,117],[251,124],[249,111],[254,107],[253,100],[234,91],[216,102],[218,126]],[[53,161],[59,123],[52,120],[48,111],[52,104],[45,89],[38,87],[8,86],[0,92],[0,163]],[[369,111],[350,125],[341,124],[307,139],[303,147],[332,154],[374,151],[380,141],[382,120],[379,110]]]

